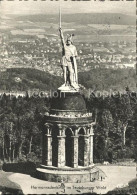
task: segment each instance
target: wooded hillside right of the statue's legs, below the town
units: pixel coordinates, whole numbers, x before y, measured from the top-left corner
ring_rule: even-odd
[[[137,78],[131,69],[94,69],[79,73],[79,83],[93,90],[123,91],[126,86],[136,90]]]

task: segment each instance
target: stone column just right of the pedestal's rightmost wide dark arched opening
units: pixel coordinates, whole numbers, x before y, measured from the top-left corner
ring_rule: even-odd
[[[89,166],[89,136],[84,135],[84,166]]]

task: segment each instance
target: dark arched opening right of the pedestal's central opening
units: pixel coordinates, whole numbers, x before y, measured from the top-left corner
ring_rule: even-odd
[[[84,166],[84,129],[81,128],[78,134],[78,165]]]

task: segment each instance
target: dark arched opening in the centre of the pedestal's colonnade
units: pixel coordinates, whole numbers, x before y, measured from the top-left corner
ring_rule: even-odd
[[[72,166],[72,132],[69,128],[66,129],[66,141],[65,141],[65,155],[66,166]]]

